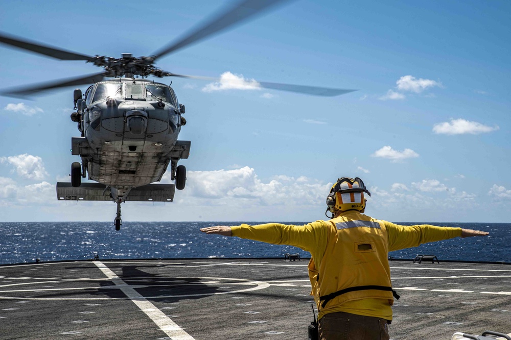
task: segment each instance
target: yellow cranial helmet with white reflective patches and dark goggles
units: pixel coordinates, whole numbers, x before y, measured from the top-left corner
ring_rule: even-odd
[[[364,193],[371,196],[362,179],[358,177],[355,179],[349,177],[337,179],[327,197],[327,212],[330,210],[334,214],[338,210],[363,211],[365,209]]]

